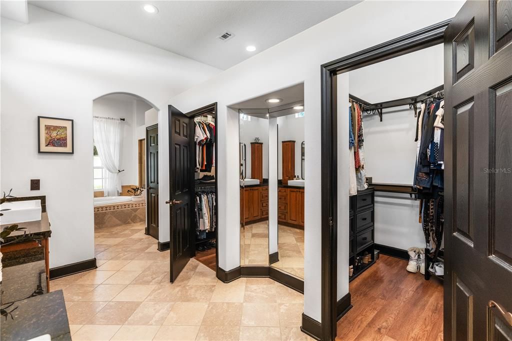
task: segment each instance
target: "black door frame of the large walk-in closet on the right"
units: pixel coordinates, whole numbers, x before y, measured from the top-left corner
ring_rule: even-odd
[[[339,58],[321,67],[322,83],[322,323],[308,331],[311,336],[332,340],[336,336],[337,282],[337,122],[336,76],[383,60],[398,57],[434,45],[443,44],[444,30],[452,19],[383,42],[371,48]],[[348,207],[348,197],[347,207]],[[446,229],[445,232],[446,233]],[[349,302],[350,304],[350,302]],[[339,316],[340,317],[340,316]]]

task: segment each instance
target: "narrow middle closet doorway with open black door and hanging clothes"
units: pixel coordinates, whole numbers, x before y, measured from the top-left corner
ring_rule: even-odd
[[[217,103],[183,114],[169,105],[170,282],[195,257],[218,272]]]

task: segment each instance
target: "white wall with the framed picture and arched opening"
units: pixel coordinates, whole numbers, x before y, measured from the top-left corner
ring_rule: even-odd
[[[27,25],[2,18],[0,190],[46,195],[53,268],[94,258],[93,100],[125,92],[165,110],[219,70],[31,5],[29,14]],[[38,115],[74,120],[73,155],[37,153]]]

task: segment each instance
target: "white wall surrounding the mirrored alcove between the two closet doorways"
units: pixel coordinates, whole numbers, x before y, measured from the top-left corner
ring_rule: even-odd
[[[304,312],[321,320],[321,91],[322,63],[380,44],[455,15],[463,2],[363,2],[169,100],[183,112],[218,102],[219,266],[240,265],[238,112],[227,108],[304,82],[306,144]],[[372,18],[363,20],[361,18]],[[355,29],[356,28],[356,29]],[[321,37],[321,38],[319,38]],[[297,53],[297,47],[301,47]],[[162,123],[167,124],[161,114]],[[343,161],[343,160],[340,160]],[[348,164],[348,160],[346,160]],[[168,169],[168,158],[162,160]],[[345,198],[346,197],[346,198]],[[340,197],[348,211],[348,196]],[[162,207],[168,215],[168,207]],[[337,226],[338,229],[348,229]],[[348,244],[345,250],[348,258]],[[346,273],[348,276],[348,273]]]

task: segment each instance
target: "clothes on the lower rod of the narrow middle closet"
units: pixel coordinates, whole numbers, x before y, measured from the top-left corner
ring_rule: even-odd
[[[197,239],[205,239],[206,232],[214,232],[216,229],[215,192],[196,190],[194,212]]]

